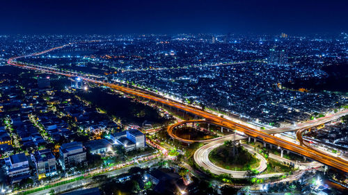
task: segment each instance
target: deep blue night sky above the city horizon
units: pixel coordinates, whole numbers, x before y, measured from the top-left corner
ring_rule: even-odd
[[[0,34],[348,32],[347,0],[3,0]]]

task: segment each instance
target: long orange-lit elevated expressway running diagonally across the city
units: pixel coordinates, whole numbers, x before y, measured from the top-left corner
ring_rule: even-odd
[[[60,47],[56,47],[55,49],[60,49],[62,48],[63,46],[60,46]],[[40,53],[34,53],[32,55],[29,55],[29,56],[37,56],[37,55],[40,55],[42,53],[47,53],[49,51],[52,51],[54,49],[49,49],[49,50],[46,50],[46,51],[42,51]],[[20,64],[19,62],[15,62],[15,60],[19,59],[19,58],[24,58],[26,56],[19,56],[19,57],[16,57],[16,58],[10,58],[8,60],[8,65],[13,65],[13,66],[16,66],[16,67],[22,67],[24,69],[33,69],[33,70],[37,70],[37,71],[43,71],[43,72],[47,72],[47,73],[51,73],[51,74],[58,74],[58,75],[63,75],[63,76],[77,76],[76,74],[70,74],[70,73],[65,73],[65,72],[62,72],[62,71],[58,71],[58,70],[55,70],[55,69],[49,69],[49,68],[43,68],[43,67],[35,67],[35,66],[31,66],[31,65],[24,65],[24,64]],[[342,171],[345,171],[345,172],[348,172],[348,162],[345,161],[345,160],[342,160],[340,158],[335,158],[335,157],[331,157],[331,156],[328,156],[328,155],[324,155],[322,153],[319,153],[313,149],[310,149],[310,148],[307,148],[307,147],[304,147],[304,146],[299,146],[297,144],[294,144],[292,142],[287,142],[286,140],[284,139],[280,139],[278,137],[274,137],[273,135],[269,135],[267,133],[264,133],[260,130],[256,130],[254,128],[251,128],[251,127],[248,127],[248,126],[245,126],[245,125],[242,125],[242,124],[237,124],[236,122],[234,121],[230,121],[228,119],[224,119],[222,117],[219,117],[219,116],[216,116],[216,115],[213,115],[212,113],[209,113],[209,112],[205,112],[203,110],[199,110],[198,108],[194,108],[194,107],[191,107],[189,105],[185,105],[183,103],[178,103],[178,102],[175,102],[175,101],[171,101],[171,100],[168,100],[168,99],[164,99],[160,96],[154,96],[152,94],[148,94],[148,92],[143,92],[143,91],[140,91],[140,90],[134,90],[134,89],[131,89],[129,87],[123,87],[121,85],[116,85],[116,84],[113,84],[113,83],[106,83],[104,81],[100,81],[100,80],[95,80],[95,79],[92,79],[92,78],[88,78],[86,76],[80,76],[81,79],[85,80],[85,81],[88,81],[90,83],[95,83],[97,85],[104,85],[106,87],[110,87],[114,90],[118,90],[120,92],[124,92],[124,93],[127,93],[127,94],[132,94],[134,96],[139,96],[139,97],[142,97],[142,98],[145,98],[145,99],[149,99],[151,101],[156,101],[158,103],[162,103],[162,104],[166,104],[166,105],[169,105],[173,108],[177,108],[177,109],[180,109],[180,110],[184,110],[185,112],[189,112],[193,115],[196,115],[198,117],[202,117],[202,118],[205,118],[209,121],[214,121],[216,123],[219,124],[219,126],[223,126],[225,128],[229,128],[229,129],[236,129],[236,130],[239,130],[241,132],[243,132],[245,135],[248,135],[248,136],[251,136],[251,137],[256,137],[258,139],[262,139],[264,142],[268,142],[270,144],[274,144],[276,146],[279,146],[283,149],[287,149],[287,150],[290,150],[292,152],[295,152],[295,153],[299,153],[301,155],[305,155],[306,157],[308,158],[311,158],[313,160],[317,160],[319,162],[322,162],[323,164],[326,164],[326,165],[329,165],[331,167],[335,167],[337,169],[340,169]]]

